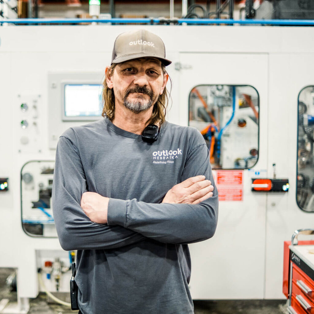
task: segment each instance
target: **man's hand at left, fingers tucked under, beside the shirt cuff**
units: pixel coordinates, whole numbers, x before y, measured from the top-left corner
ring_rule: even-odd
[[[81,198],[81,207],[90,221],[97,224],[107,223],[109,198],[95,192],[84,192]]]

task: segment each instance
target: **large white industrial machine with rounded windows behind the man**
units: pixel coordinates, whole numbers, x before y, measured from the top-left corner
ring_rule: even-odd
[[[39,291],[69,292],[75,252],[58,242],[51,203],[57,141],[68,127],[101,119],[113,42],[137,27],[164,40],[173,61],[167,120],[203,134],[219,190],[216,234],[190,245],[193,299],[284,298],[273,257],[314,218],[313,28],[7,26],[0,267],[17,270],[16,313]]]

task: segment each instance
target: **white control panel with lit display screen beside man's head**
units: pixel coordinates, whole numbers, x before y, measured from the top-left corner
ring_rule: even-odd
[[[49,148],[69,127],[101,118],[102,72],[48,73]],[[88,101],[89,99],[89,101]]]

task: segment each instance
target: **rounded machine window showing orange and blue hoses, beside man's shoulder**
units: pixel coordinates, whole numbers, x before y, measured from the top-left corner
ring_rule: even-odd
[[[252,168],[258,159],[259,96],[249,85],[198,85],[189,125],[203,135],[213,169]]]

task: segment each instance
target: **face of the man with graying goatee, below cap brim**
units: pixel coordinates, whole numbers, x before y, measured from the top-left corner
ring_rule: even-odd
[[[118,63],[107,78],[108,87],[113,88],[116,102],[135,113],[154,105],[166,83],[167,75],[162,72],[161,61],[154,58]]]

